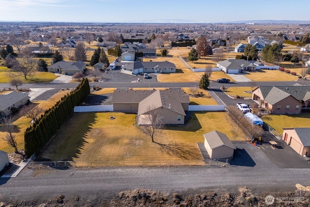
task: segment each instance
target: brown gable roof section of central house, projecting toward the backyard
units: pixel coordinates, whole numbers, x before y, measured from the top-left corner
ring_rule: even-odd
[[[189,97],[183,90],[158,90],[139,103],[138,115],[148,112],[150,106],[155,109],[164,107],[182,115],[186,115],[182,103],[189,103]]]

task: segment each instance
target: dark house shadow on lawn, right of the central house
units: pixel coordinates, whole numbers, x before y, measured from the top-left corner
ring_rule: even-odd
[[[176,131],[198,131],[202,128],[196,113],[206,113],[205,111],[186,111],[185,124],[184,125],[166,125],[167,130]],[[187,118],[188,117],[188,118]]]

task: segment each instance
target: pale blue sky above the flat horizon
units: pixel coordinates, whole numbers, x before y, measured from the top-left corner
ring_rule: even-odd
[[[0,0],[0,21],[309,21],[307,5],[310,6],[310,0],[297,2],[298,4],[294,4],[292,0],[259,0],[255,3],[252,0]]]

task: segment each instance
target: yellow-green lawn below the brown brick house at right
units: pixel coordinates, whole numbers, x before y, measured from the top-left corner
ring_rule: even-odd
[[[270,114],[263,116],[262,119],[279,132],[280,135],[283,133],[283,128],[310,127],[310,113],[291,115]]]

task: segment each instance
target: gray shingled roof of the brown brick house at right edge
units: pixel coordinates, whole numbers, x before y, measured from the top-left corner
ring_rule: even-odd
[[[306,101],[310,98],[310,86],[260,86],[263,99],[268,103],[278,103],[280,100],[293,96],[298,101]]]

